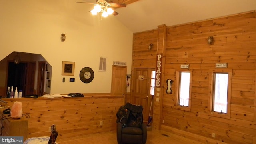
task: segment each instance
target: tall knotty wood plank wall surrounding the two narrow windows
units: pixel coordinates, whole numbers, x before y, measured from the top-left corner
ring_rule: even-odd
[[[147,68],[142,62],[144,58],[147,62],[156,61],[156,53],[149,60],[150,56],[138,51],[138,47],[150,41],[147,37],[150,34],[154,34],[151,37],[155,40],[156,30],[134,34],[134,66]],[[208,36],[214,37],[212,45],[207,44]],[[256,144],[256,12],[168,26],[165,56],[164,80],[174,82],[172,94],[162,92],[160,102],[154,100],[155,107],[160,106],[160,111],[154,110],[154,114],[161,114],[161,130],[194,139],[193,133],[202,143],[209,143],[207,139],[211,139],[230,144]],[[228,63],[226,69],[232,70],[230,119],[208,115],[209,76],[210,71],[216,69],[215,63]],[[193,70],[191,111],[174,106],[175,72],[181,64],[189,64]],[[166,88],[165,83],[162,90]],[[158,122],[153,118],[154,125]]]

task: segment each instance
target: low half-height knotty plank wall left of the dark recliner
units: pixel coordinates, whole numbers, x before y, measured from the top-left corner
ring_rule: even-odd
[[[22,102],[23,114],[30,116],[27,138],[50,136],[48,128],[55,124],[59,133],[56,142],[116,130],[116,112],[124,105],[124,96],[4,100],[10,106],[15,101]],[[103,121],[102,126],[100,121]]]

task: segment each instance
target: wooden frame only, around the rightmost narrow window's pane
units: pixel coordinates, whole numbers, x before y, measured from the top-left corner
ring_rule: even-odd
[[[216,73],[227,73],[228,74],[228,94],[227,94],[227,113],[221,113],[214,111],[214,86],[215,86],[215,78],[214,74]],[[231,107],[231,89],[232,89],[232,70],[211,70],[210,78],[209,78],[209,99],[208,99],[208,115],[215,116],[219,118],[230,119],[230,107]]]

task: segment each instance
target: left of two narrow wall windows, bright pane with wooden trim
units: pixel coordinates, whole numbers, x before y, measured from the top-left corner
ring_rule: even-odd
[[[181,110],[190,111],[192,71],[176,71],[177,100],[176,105]]]

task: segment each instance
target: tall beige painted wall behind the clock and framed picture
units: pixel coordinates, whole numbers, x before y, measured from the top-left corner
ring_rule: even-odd
[[[92,16],[92,7],[75,0],[1,0],[0,60],[13,51],[42,54],[52,66],[53,94],[110,92],[113,61],[126,62],[131,73],[132,32],[114,16]],[[98,72],[100,56],[107,57],[106,72]],[[74,76],[61,75],[62,61],[76,62]],[[79,78],[86,66],[95,74],[89,84]]]

